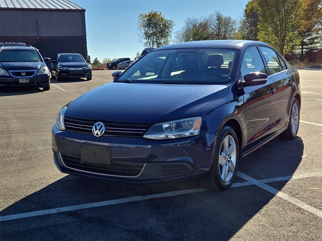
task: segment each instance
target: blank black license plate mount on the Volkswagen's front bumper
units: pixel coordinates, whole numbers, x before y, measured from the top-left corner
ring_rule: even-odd
[[[81,148],[82,162],[111,165],[111,149],[100,146],[83,146]]]

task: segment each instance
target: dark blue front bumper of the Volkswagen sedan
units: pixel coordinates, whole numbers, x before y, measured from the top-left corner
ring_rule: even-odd
[[[215,134],[164,141],[97,138],[59,131],[54,125],[52,150],[54,163],[63,173],[142,183],[205,174],[212,165],[214,138]],[[90,162],[83,160],[81,152],[85,146],[108,149],[106,155],[110,158],[106,163],[96,163],[95,157]]]

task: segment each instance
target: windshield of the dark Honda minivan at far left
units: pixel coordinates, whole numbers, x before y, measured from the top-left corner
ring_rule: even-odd
[[[0,62],[41,62],[42,59],[34,49],[3,49]]]

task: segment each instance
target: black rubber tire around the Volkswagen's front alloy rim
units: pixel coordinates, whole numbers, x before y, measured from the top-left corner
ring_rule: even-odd
[[[229,179],[229,181],[224,182],[222,180],[222,178],[220,177],[220,169],[221,169],[220,165],[221,164],[219,164],[219,155],[223,151],[222,150],[223,141],[228,136],[230,139],[232,137],[233,141],[235,143],[235,150],[234,150],[234,152],[235,152],[235,166],[234,166],[234,170],[232,173],[229,171],[229,173],[231,173],[231,175],[232,175],[231,178]],[[229,144],[231,145],[231,143],[229,143]],[[231,186],[231,184],[236,176],[238,162],[239,162],[238,138],[236,136],[236,133],[234,132],[234,130],[231,127],[225,126],[220,131],[220,134],[217,139],[217,143],[216,143],[215,151],[214,151],[214,156],[213,156],[212,167],[209,170],[209,172],[206,174],[205,178],[200,181],[201,185],[204,188],[209,189],[209,190],[213,190],[213,191],[222,191],[222,190],[228,189]],[[228,166],[227,166],[227,164],[225,164],[225,165],[226,165],[226,168],[228,168],[229,164],[228,164]]]

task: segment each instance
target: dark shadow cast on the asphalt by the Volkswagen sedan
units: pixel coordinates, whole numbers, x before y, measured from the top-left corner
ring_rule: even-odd
[[[292,176],[303,149],[299,137],[291,141],[275,138],[241,159],[238,170],[256,179]],[[240,181],[245,180],[235,182]],[[195,182],[143,185],[67,175],[5,208],[0,215],[196,187],[200,185]],[[227,240],[273,197],[251,185],[22,218],[2,223],[1,239]]]

